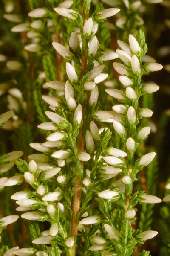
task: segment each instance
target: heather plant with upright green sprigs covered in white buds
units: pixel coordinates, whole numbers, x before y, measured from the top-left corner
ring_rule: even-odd
[[[21,151],[2,154],[0,189],[19,185],[11,201],[24,221],[34,221],[30,243],[11,249],[3,244],[4,256],[150,255],[143,244],[158,234],[151,229],[161,199],[158,158],[146,139],[159,86],[143,77],[162,65],[146,55],[141,2],[102,2],[29,0],[24,19],[3,15],[7,22],[23,22],[10,28],[21,38],[21,48],[15,47],[23,51],[23,64],[7,64],[17,71],[12,83],[20,90],[8,90],[15,115],[2,114],[0,128],[8,129],[11,117],[23,119],[12,140],[14,148],[24,144],[24,157]],[[16,141],[20,136],[26,143]],[[17,171],[9,177],[14,164]],[[0,218],[1,232],[18,218]]]

